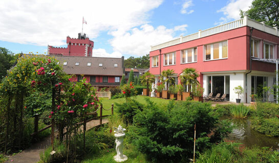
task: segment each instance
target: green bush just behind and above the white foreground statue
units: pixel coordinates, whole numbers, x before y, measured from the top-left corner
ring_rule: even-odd
[[[133,124],[134,116],[143,109],[143,104],[135,99],[127,99],[124,103],[115,103],[115,105],[116,112],[123,118],[125,124]]]

